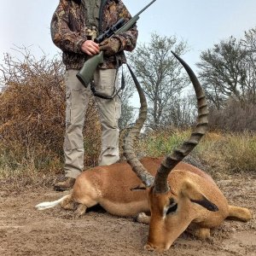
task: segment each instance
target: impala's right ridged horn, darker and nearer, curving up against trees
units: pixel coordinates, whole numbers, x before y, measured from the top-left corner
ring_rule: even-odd
[[[192,132],[189,140],[185,141],[178,149],[173,150],[172,154],[166,156],[166,159],[161,163],[154,180],[154,191],[156,193],[166,193],[170,189],[167,181],[169,173],[195,148],[200,142],[201,137],[206,134],[208,128],[208,109],[204,90],[189,65],[175,53],[172,52],[172,54],[181,62],[194,86],[197,98],[198,119],[195,131]]]

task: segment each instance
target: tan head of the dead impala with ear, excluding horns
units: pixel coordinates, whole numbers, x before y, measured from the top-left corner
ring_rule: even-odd
[[[206,211],[217,212],[218,207],[207,200],[192,180],[184,178],[175,192],[170,189],[157,193],[154,186],[148,189],[151,219],[149,225],[148,250],[167,250],[186,230],[195,216]]]

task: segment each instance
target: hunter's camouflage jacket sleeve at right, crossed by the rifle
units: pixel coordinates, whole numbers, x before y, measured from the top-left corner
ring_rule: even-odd
[[[131,20],[131,15],[129,11],[126,9],[125,4],[122,1],[119,1],[119,16],[123,17],[126,21]],[[131,27],[127,32],[122,32],[118,36],[121,41],[121,49],[131,51],[135,49],[137,43],[137,26],[136,24]]]

